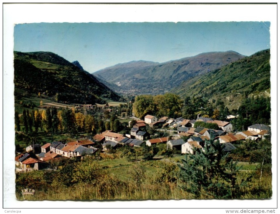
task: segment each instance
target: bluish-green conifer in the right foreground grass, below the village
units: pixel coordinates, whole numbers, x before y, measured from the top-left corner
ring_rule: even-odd
[[[219,141],[205,142],[204,150],[189,155],[181,166],[181,179],[184,189],[193,193],[196,198],[240,198],[240,187],[248,184],[247,180],[237,182],[240,167],[233,162],[228,153],[222,152],[223,144]]]

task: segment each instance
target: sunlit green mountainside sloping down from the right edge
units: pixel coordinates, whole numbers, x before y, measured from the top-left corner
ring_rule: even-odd
[[[220,69],[183,81],[171,93],[222,99],[229,109],[242,99],[256,95],[270,96],[270,50],[259,51]]]

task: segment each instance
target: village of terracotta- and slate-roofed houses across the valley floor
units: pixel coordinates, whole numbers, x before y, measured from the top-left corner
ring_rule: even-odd
[[[230,120],[236,116],[227,116]],[[235,150],[235,143],[247,139],[259,141],[269,134],[270,127],[264,124],[254,124],[242,132],[232,132],[232,124],[227,121],[213,120],[198,115],[196,120],[182,117],[168,118],[166,116],[146,115],[144,120],[135,118],[129,122],[130,133],[120,134],[105,130],[89,139],[78,139],[72,142],[48,142],[44,145],[32,144],[26,147],[26,153],[17,154],[15,157],[16,172],[48,169],[49,162],[57,158],[83,158],[101,153],[111,153],[119,147],[141,147],[146,145],[164,144],[167,150],[176,150],[181,154],[195,155],[198,150],[203,150],[205,141],[214,139],[224,145],[223,152]],[[195,127],[195,123],[204,122],[217,124],[218,130]],[[132,124],[133,123],[133,124]],[[167,137],[150,135],[147,128],[168,133]],[[101,146],[102,147],[101,147]]]

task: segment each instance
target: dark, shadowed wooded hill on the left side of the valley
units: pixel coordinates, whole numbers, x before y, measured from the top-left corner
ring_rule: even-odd
[[[119,101],[114,91],[79,66],[51,52],[14,52],[14,84],[17,91],[70,103]]]

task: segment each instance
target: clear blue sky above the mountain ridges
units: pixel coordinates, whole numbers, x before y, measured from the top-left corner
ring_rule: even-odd
[[[252,55],[270,48],[269,22],[28,23],[14,50],[50,51],[92,73],[132,60],[166,62],[202,52]]]

